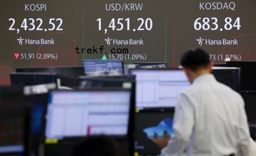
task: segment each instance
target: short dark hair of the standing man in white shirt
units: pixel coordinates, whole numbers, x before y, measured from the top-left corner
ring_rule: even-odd
[[[180,59],[180,64],[192,71],[197,71],[199,68],[206,68],[209,63],[209,54],[199,48],[187,51]]]

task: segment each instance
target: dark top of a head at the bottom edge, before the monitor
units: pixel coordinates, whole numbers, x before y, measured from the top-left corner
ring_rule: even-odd
[[[72,156],[116,156],[116,142],[109,136],[87,136],[73,147]]]

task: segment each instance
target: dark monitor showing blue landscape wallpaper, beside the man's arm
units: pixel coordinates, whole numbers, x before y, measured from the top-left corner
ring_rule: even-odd
[[[173,134],[173,111],[135,114],[134,152],[138,156],[157,156]]]

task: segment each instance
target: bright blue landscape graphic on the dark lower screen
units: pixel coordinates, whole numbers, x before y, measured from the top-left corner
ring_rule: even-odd
[[[145,128],[143,132],[148,139],[169,139],[173,133],[172,122],[172,119],[166,118],[155,127]]]

